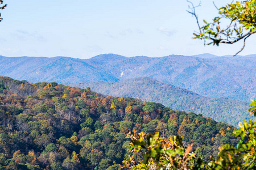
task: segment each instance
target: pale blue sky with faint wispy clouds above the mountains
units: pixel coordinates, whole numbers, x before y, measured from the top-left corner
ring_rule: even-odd
[[[191,0],[195,5],[197,0]],[[231,1],[216,0],[218,7]],[[204,46],[193,40],[195,18],[186,0],[4,0],[0,55],[90,58],[114,53],[126,57],[235,54],[242,44]],[[212,1],[197,8],[200,22],[217,15]],[[255,54],[256,35],[241,55]]]

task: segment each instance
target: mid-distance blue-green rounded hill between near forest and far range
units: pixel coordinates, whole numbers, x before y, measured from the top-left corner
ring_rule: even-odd
[[[151,78],[135,78],[117,83],[92,82],[73,84],[105,95],[133,97],[164,104],[166,107],[186,112],[203,114],[216,121],[228,122],[234,126],[242,120],[249,120],[249,103],[223,97],[204,97],[183,88],[159,82]]]

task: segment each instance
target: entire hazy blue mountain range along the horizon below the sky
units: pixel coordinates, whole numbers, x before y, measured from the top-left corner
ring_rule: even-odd
[[[249,103],[256,97],[254,65],[255,56],[214,58],[209,54],[155,58],[102,54],[90,59],[0,57],[0,75],[57,83],[118,82],[149,77],[203,96]]]

